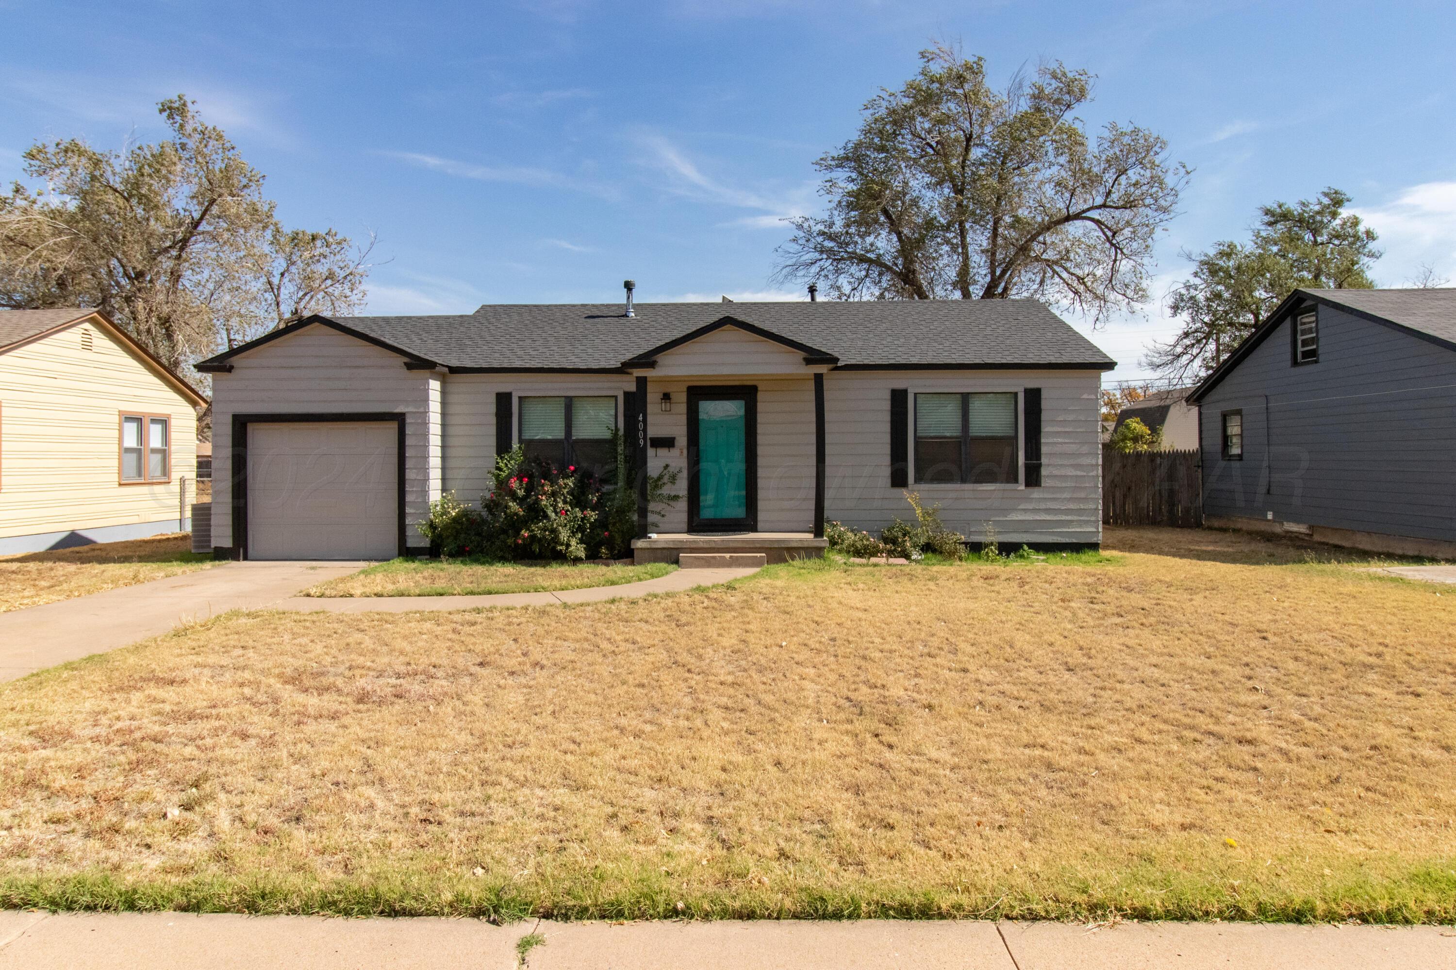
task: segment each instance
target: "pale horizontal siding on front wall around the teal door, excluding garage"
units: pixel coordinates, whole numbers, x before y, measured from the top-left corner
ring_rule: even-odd
[[[706,338],[705,338],[706,339]],[[753,338],[757,339],[757,338]],[[763,342],[763,341],[760,341]],[[807,532],[814,520],[814,379],[712,374],[648,380],[648,435],[676,438],[673,450],[649,454],[648,470],[683,470],[687,492],[687,387],[759,387],[759,527]],[[909,518],[904,489],[890,486],[890,389],[916,392],[1042,389],[1042,488],[1022,485],[911,485],[939,502],[951,527],[980,539],[990,521],[1000,540],[1085,543],[1101,539],[1102,453],[1098,446],[1096,371],[830,371],[826,398],[826,514],[844,524],[881,529]],[[571,374],[451,374],[444,380],[444,488],[475,502],[495,462],[495,393],[620,395],[630,377]],[[660,408],[662,392],[673,409]],[[620,409],[620,405],[619,405]],[[518,405],[515,414],[518,414]],[[623,419],[619,411],[619,421]],[[514,428],[513,428],[514,435]],[[913,444],[911,444],[913,454]],[[913,481],[913,479],[911,479]],[[687,527],[687,502],[661,521],[664,532]]]

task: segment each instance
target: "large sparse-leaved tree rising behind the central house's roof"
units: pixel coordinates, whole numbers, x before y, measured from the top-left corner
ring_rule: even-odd
[[[1073,112],[1092,77],[1060,63],[994,90],[939,45],[815,165],[823,216],[792,220],[778,278],[842,299],[1037,297],[1101,319],[1146,300],[1153,237],[1188,170],[1166,143]]]

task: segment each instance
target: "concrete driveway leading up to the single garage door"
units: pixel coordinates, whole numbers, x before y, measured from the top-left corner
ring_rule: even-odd
[[[166,580],[0,613],[0,682],[165,634],[178,623],[269,606],[367,562],[224,562]]]

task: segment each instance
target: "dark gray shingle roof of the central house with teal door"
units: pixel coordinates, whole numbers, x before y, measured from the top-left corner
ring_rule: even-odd
[[[1035,300],[486,304],[459,316],[313,316],[204,361],[226,363],[323,323],[453,371],[622,371],[715,325],[734,325],[839,368],[1085,368],[1117,364]]]

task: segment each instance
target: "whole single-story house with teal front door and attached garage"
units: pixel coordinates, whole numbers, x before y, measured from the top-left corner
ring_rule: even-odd
[[[681,470],[641,559],[817,555],[826,520],[881,529],[906,489],[973,540],[1101,543],[1102,351],[1032,300],[482,306],[312,316],[198,366],[213,376],[218,556],[428,552],[444,491],[496,454]],[[652,536],[649,530],[655,529]]]

